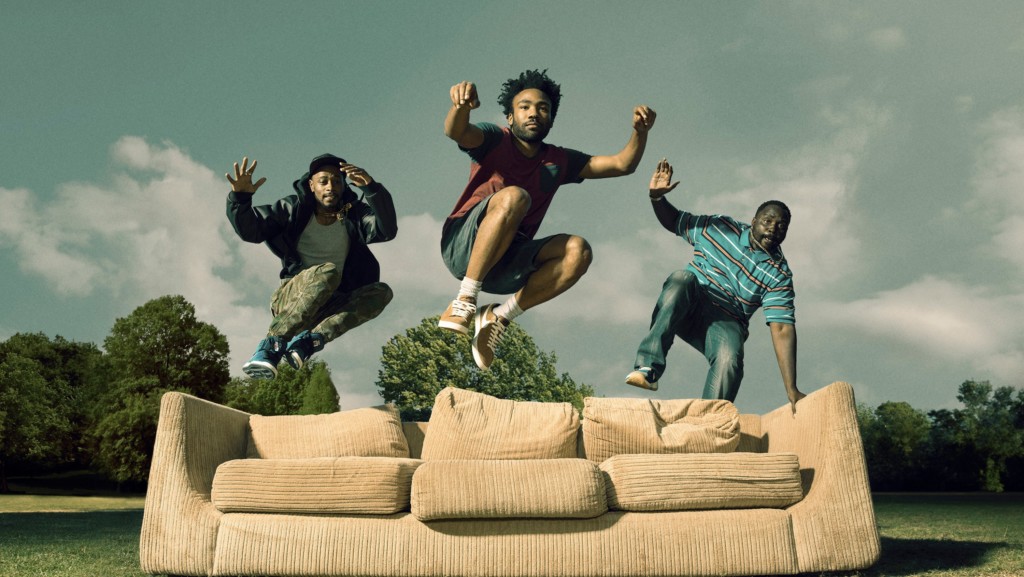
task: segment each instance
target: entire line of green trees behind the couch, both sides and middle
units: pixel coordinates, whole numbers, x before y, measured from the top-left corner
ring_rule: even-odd
[[[322,361],[251,380],[231,378],[227,358],[226,338],[176,295],[118,319],[102,349],[42,333],[0,342],[0,492],[8,475],[73,469],[143,488],[168,390],[263,415],[339,410]],[[511,325],[490,370],[479,371],[468,337],[439,330],[434,317],[383,345],[376,385],[404,420],[429,419],[434,397],[450,384],[582,409],[593,388],[559,374],[556,363]],[[872,490],[1024,490],[1024,390],[969,380],[957,399],[962,408],[927,413],[904,402],[857,406]]]

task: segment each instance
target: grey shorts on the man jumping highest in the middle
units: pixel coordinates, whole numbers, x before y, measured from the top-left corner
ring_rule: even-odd
[[[441,258],[455,278],[462,280],[469,267],[469,255],[476,242],[476,232],[487,210],[487,197],[462,216],[445,220],[441,231]],[[526,286],[537,271],[537,253],[554,237],[528,239],[516,233],[508,250],[482,279],[483,290],[493,294],[511,294]],[[479,280],[479,279],[477,279]]]

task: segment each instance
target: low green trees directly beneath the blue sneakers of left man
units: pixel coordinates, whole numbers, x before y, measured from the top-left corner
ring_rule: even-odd
[[[273,380],[232,378],[224,396],[228,407],[257,415],[311,415],[338,410],[338,390],[331,371],[318,359],[298,371],[283,364]]]

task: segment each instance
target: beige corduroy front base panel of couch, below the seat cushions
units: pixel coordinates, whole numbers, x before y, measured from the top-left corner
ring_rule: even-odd
[[[779,509],[423,523],[228,513],[214,575],[680,577],[796,573]]]

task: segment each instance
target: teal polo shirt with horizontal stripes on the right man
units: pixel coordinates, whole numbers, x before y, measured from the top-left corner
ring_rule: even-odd
[[[719,214],[680,211],[676,234],[693,245],[687,270],[713,305],[743,324],[762,307],[766,323],[796,323],[793,272],[782,248],[769,255],[751,248],[751,225]]]

